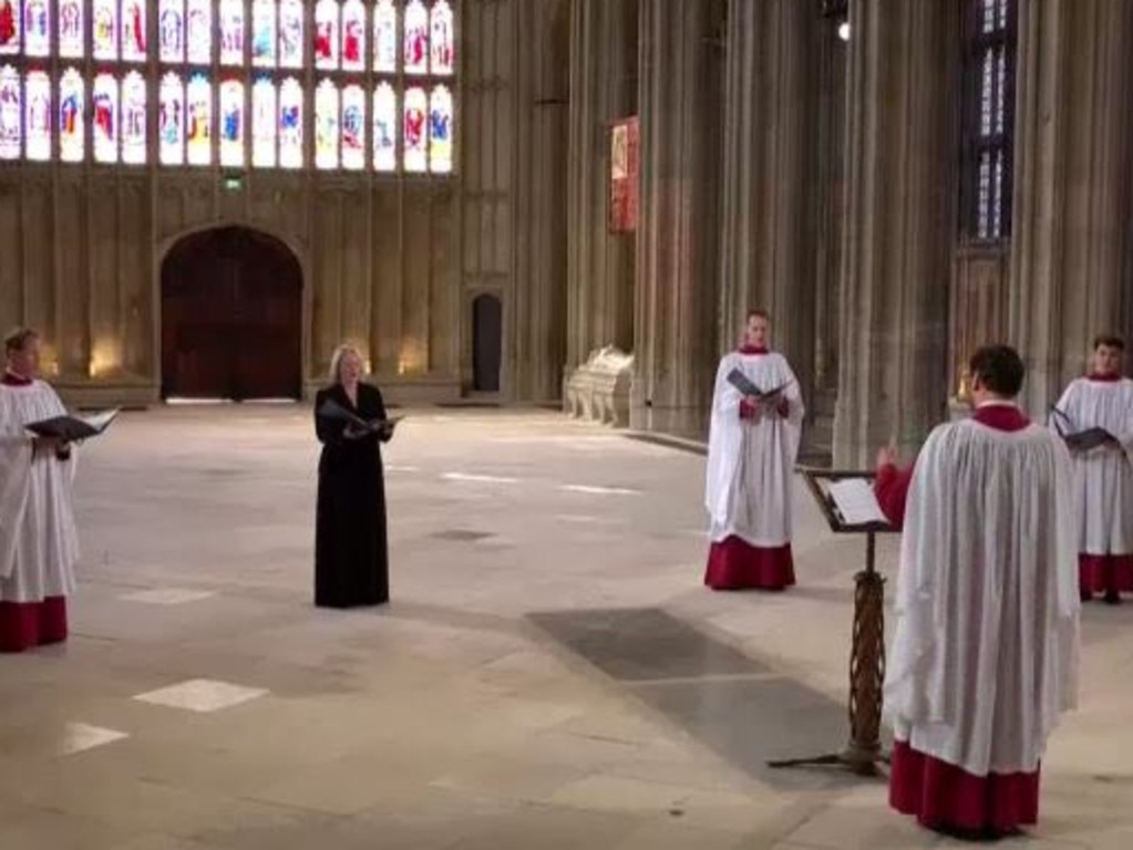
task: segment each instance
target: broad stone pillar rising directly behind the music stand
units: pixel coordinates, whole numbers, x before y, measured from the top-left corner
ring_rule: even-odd
[[[945,417],[960,5],[850,5],[849,181],[834,463],[872,466]]]

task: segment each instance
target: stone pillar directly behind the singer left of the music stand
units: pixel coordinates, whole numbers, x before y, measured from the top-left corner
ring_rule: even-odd
[[[772,342],[810,401],[815,361],[817,72],[821,20],[810,0],[733,3],[724,84],[718,353],[749,309],[772,315]]]

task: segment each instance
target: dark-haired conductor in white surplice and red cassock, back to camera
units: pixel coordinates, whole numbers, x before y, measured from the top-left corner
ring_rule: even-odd
[[[1081,601],[1070,454],[1015,406],[1014,350],[970,369],[971,419],[936,428],[911,471],[878,457],[878,501],[903,523],[885,712],[889,804],[990,838],[1038,818],[1047,739],[1076,704]]]

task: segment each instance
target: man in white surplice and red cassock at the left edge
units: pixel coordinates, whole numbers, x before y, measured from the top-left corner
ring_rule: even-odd
[[[26,426],[66,414],[39,371],[40,341],[27,329],[5,340],[0,377],[0,652],[67,639],[78,534],[71,506],[74,460],[56,438]]]

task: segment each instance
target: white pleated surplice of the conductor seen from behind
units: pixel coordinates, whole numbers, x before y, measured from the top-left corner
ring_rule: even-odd
[[[885,677],[895,737],[977,776],[1033,772],[1077,698],[1066,447],[974,420],[929,436],[909,488]]]

